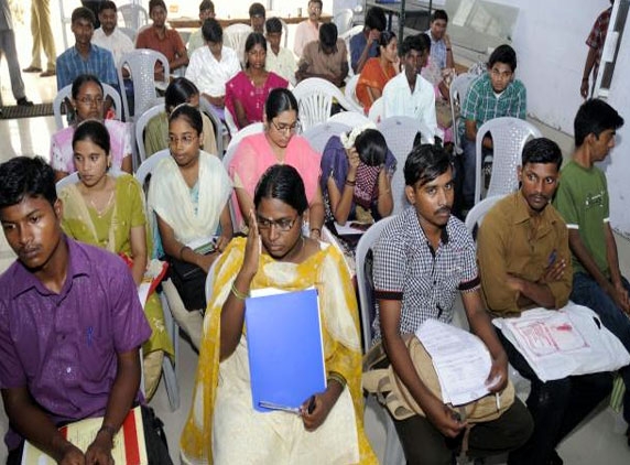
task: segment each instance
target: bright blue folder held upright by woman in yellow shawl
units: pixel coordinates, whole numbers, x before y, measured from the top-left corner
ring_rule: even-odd
[[[253,408],[260,402],[298,408],[326,389],[317,291],[246,300],[245,322]]]

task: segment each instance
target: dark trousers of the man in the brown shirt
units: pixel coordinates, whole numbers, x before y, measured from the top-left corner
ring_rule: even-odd
[[[588,415],[612,389],[609,372],[571,376],[543,382],[519,350],[497,332],[510,364],[532,383],[528,409],[534,419],[530,440],[512,452],[510,465],[547,464],[557,444]]]

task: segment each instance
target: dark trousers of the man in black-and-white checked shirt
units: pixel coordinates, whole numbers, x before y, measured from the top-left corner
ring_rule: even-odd
[[[452,465],[461,447],[461,435],[444,436],[425,417],[395,420],[394,425],[408,465]],[[468,455],[487,457],[514,450],[525,443],[532,432],[532,419],[523,403],[515,399],[497,420],[476,423],[468,439]]]

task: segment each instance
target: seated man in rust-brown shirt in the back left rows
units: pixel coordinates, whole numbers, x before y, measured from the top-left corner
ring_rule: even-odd
[[[151,48],[160,52],[169,61],[171,73],[188,64],[188,52],[174,29],[166,28],[166,3],[164,0],[149,2],[149,17],[153,21],[150,28],[140,31],[135,37],[135,48]],[[164,80],[164,69],[155,65],[155,80]]]

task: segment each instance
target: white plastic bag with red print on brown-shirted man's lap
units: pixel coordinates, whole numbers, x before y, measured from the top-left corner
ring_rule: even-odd
[[[521,353],[541,381],[612,371],[630,363],[621,342],[586,306],[532,309],[495,326]]]

